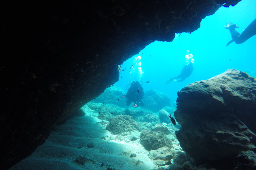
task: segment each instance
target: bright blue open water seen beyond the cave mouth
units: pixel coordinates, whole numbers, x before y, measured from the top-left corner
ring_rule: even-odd
[[[122,64],[125,71],[121,71],[119,81],[115,85],[127,91],[127,84],[140,80],[144,82],[144,90],[165,92],[175,101],[177,92],[183,87],[195,81],[210,79],[228,69],[237,69],[256,77],[256,36],[243,44],[231,43],[226,47],[231,36],[229,30],[224,28],[227,22],[233,22],[239,26],[237,31],[241,33],[254,19],[255,0],[243,0],[229,8],[220,7],[215,14],[206,16],[201,22],[201,27],[191,34],[177,34],[172,42],[155,41],[141,49],[139,54]],[[194,56],[193,73],[183,82],[172,81],[165,85],[166,80],[180,74],[186,64],[187,50]],[[141,56],[141,60],[135,58],[138,56]],[[143,71],[142,74],[139,67]]]

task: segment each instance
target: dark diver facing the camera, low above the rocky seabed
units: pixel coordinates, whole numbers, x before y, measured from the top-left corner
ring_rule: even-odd
[[[130,84],[131,86],[125,95],[126,105],[129,106],[133,102],[134,104],[132,105],[132,107],[144,106],[144,103],[142,101],[144,97],[144,90],[141,86],[142,84],[140,84],[139,81],[133,81]],[[128,84],[127,86],[129,86],[130,84]]]

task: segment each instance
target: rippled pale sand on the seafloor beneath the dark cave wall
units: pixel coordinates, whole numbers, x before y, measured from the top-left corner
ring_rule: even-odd
[[[158,168],[139,139],[131,141],[126,135],[112,135],[96,116],[98,113],[86,108],[85,116],[56,126],[43,145],[10,169]],[[173,147],[180,150],[174,138]],[[135,157],[130,157],[131,154]]]

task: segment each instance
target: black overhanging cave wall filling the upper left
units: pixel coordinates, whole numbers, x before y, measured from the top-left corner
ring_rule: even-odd
[[[1,167],[118,81],[127,58],[239,1],[1,1]]]

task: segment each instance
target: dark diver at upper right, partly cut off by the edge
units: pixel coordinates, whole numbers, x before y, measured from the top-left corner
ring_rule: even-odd
[[[235,41],[236,44],[242,44],[247,39],[251,38],[252,36],[256,35],[256,19],[252,21],[247,28],[242,33],[239,33],[236,28],[239,28],[236,26],[236,24],[233,24],[231,22],[226,23],[225,28],[228,29],[231,33],[232,40],[228,42],[226,46],[228,46],[230,43]]]

